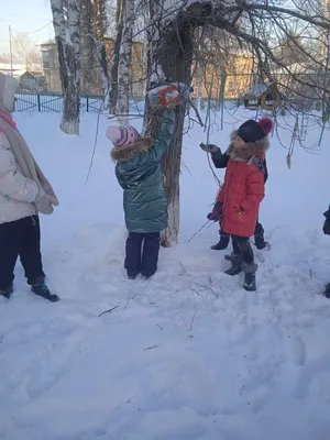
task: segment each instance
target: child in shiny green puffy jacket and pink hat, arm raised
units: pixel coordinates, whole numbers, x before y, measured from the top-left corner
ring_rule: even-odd
[[[150,278],[157,271],[161,232],[167,228],[167,197],[160,161],[169,147],[175,111],[163,112],[160,132],[153,141],[142,138],[132,125],[109,127],[117,162],[116,176],[123,188],[123,208],[129,237],[125,246],[128,277],[141,273]]]

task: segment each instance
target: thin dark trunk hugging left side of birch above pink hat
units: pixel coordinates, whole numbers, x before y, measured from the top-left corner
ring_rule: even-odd
[[[122,0],[117,1],[117,36],[114,41],[113,54],[112,54],[112,67],[111,67],[111,90],[110,90],[110,113],[114,114],[117,110],[118,101],[118,69],[119,69],[119,53],[122,41],[123,31],[123,13],[122,13]]]

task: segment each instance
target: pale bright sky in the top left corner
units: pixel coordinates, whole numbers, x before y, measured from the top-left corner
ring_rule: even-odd
[[[50,0],[1,0],[0,54],[9,53],[9,25],[13,36],[26,33],[33,43],[40,43],[54,36],[51,21]]]

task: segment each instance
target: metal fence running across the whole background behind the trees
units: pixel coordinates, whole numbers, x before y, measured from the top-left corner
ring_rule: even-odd
[[[282,98],[299,109],[317,110],[330,116],[329,94],[322,90],[330,89],[329,74],[274,74],[272,82]],[[237,107],[243,105],[244,95],[255,85],[262,85],[260,78],[253,74],[219,74],[205,81],[199,99],[201,107],[220,110],[224,102],[231,101]],[[195,85],[196,86],[196,85]],[[194,96],[193,96],[194,99]],[[81,96],[81,112],[98,112],[102,106],[102,96]],[[130,96],[131,103],[144,100],[144,96]],[[16,94],[16,111],[62,112],[63,96],[54,92],[29,92],[20,90]]]

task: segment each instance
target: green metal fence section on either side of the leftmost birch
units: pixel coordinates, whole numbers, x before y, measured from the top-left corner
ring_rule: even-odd
[[[59,94],[31,94],[18,91],[15,111],[57,112],[63,111],[63,96]],[[82,96],[80,98],[81,112],[98,112],[101,109],[101,96]]]

